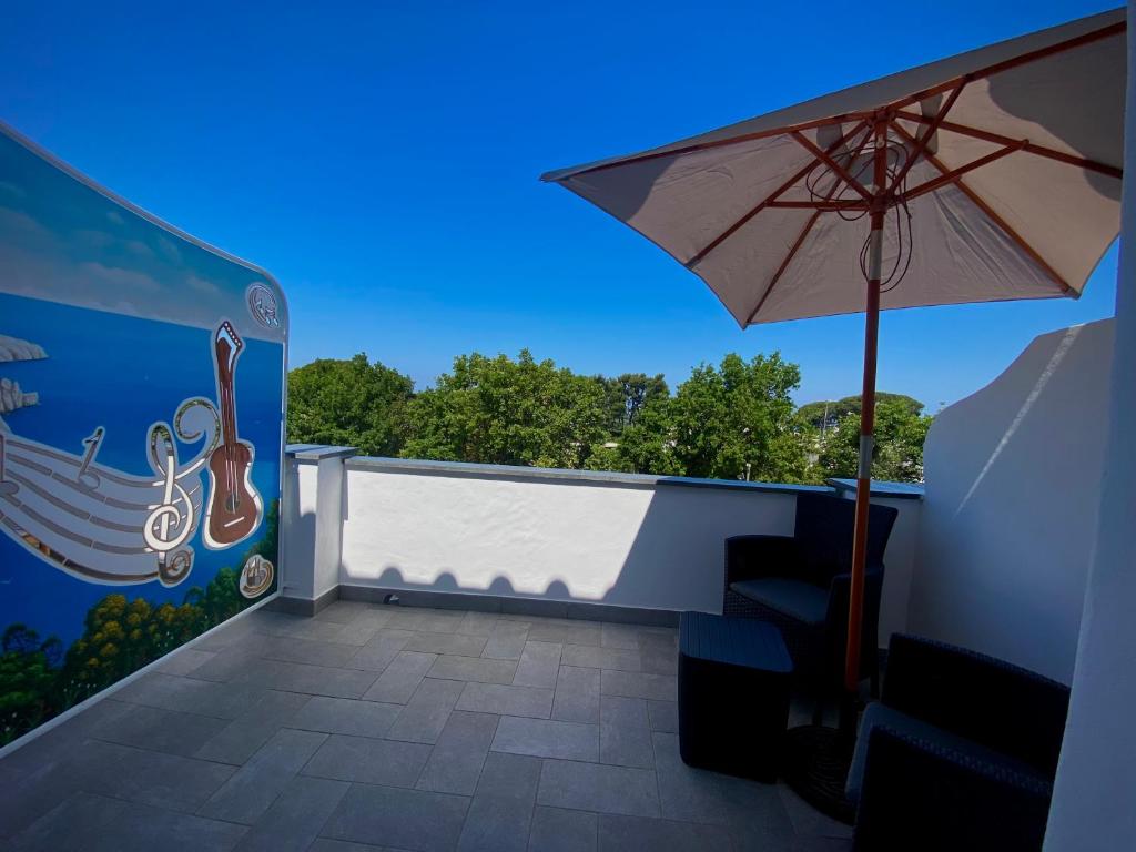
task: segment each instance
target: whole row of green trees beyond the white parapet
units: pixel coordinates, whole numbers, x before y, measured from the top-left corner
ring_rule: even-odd
[[[797,365],[728,354],[671,393],[662,375],[586,376],[537,360],[459,356],[435,385],[365,354],[289,377],[289,440],[368,454],[661,476],[819,483],[855,473],[860,396],[796,408]],[[827,417],[826,417],[827,407]],[[877,394],[875,476],[922,477],[924,406]]]

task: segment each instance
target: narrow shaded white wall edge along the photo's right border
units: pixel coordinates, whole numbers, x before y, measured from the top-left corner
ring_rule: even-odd
[[[1129,17],[1134,12],[1136,0],[1129,0]],[[1108,417],[1111,432],[1046,852],[1136,847],[1136,40],[1128,37],[1111,400],[1108,411],[1086,412]]]

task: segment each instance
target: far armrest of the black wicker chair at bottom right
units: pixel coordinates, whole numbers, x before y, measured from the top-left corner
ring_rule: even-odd
[[[1069,687],[975,651],[892,636],[883,702],[1014,757],[1052,778]]]

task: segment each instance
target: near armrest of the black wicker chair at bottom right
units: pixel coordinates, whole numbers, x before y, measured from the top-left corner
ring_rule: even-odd
[[[869,736],[858,852],[1042,849],[1053,788],[1041,776],[888,727]]]

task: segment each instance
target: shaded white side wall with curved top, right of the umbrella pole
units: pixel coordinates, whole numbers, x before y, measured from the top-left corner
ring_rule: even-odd
[[[909,627],[1072,677],[1096,538],[1113,320],[1037,337],[991,385],[943,410]]]

